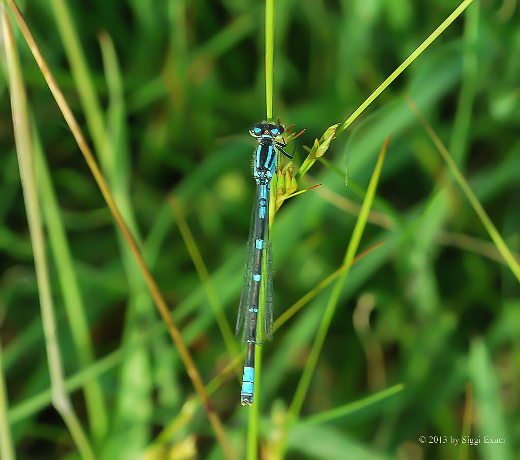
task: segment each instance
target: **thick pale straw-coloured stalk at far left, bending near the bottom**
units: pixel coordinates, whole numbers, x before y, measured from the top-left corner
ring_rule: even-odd
[[[47,260],[45,254],[45,240],[43,235],[43,224],[38,204],[38,192],[36,186],[36,175],[34,173],[32,133],[30,127],[27,96],[23,86],[23,77],[20,69],[18,52],[15,45],[7,11],[4,5],[2,10],[2,31],[4,37],[4,48],[7,60],[7,72],[11,95],[12,121],[15,132],[16,152],[22,182],[23,199],[29,233],[33,247],[34,266],[36,270],[36,283],[40,297],[42,310],[42,322],[47,350],[53,404],[62,416],[69,428],[72,439],[81,456],[87,460],[94,459],[94,452],[85,431],[77,418],[69,395],[64,386],[63,369],[57,340],[56,320],[53,299],[50,289]]]

